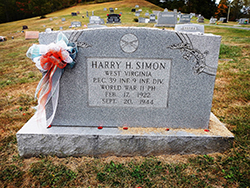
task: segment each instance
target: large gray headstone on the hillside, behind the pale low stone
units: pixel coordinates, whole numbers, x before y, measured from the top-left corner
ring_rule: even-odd
[[[156,27],[174,27],[177,23],[177,14],[175,12],[160,12],[157,18]]]

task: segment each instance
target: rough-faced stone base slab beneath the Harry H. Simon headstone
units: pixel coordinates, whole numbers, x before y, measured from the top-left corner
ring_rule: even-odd
[[[208,132],[166,128],[44,128],[33,116],[16,136],[23,157],[208,154],[224,152],[234,140],[233,134],[212,113]]]

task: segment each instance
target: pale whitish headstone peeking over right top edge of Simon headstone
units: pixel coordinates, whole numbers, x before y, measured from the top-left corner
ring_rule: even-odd
[[[178,24],[178,25],[175,25],[175,31],[204,34],[204,25],[200,25],[200,24]]]

